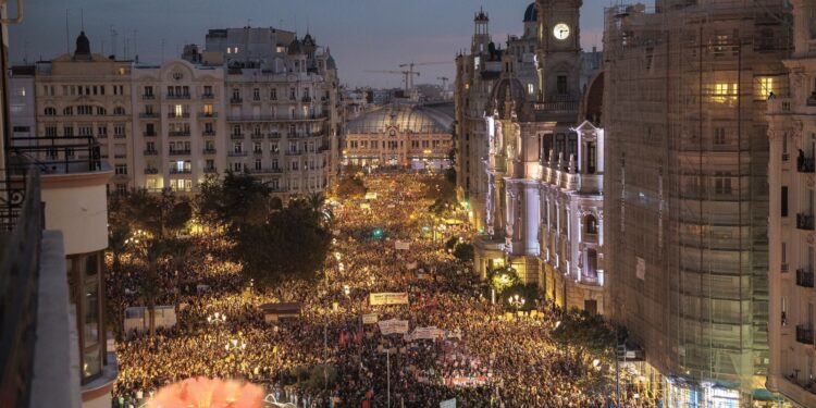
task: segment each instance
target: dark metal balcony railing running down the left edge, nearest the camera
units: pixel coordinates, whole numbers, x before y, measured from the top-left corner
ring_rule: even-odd
[[[0,400],[27,407],[34,376],[39,254],[44,207],[38,169],[10,169],[2,182],[0,225],[7,234],[0,258]]]

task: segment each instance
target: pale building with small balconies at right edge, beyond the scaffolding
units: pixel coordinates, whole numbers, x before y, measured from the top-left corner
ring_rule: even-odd
[[[767,386],[802,406],[813,407],[816,1],[792,3],[794,52],[784,60],[790,72],[790,95],[768,100],[771,199]]]

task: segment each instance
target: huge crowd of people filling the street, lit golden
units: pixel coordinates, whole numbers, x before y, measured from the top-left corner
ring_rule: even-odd
[[[160,305],[176,323],[154,336],[126,333],[118,342],[114,397],[138,406],[158,388],[190,376],[262,384],[298,407],[605,407],[613,384],[598,356],[559,346],[558,313],[543,299],[534,317],[492,305],[472,265],[444,243],[470,239],[467,224],[429,213],[426,181],[410,174],[366,180],[368,198],[330,201],[333,246],[321,279],[252,287],[227,261],[228,239],[196,235],[189,261],[166,265]],[[397,249],[395,243],[407,243]],[[109,277],[111,296],[139,305],[134,276]],[[370,305],[372,293],[407,293],[407,305]],[[260,305],[296,301],[299,318],[269,322]],[[383,334],[378,321],[440,329],[434,338]],[[314,368],[323,368],[320,369]],[[327,375],[326,367],[336,373]],[[321,375],[322,372],[322,375]],[[650,407],[626,392],[627,407]],[[115,404],[114,404],[115,405]]]

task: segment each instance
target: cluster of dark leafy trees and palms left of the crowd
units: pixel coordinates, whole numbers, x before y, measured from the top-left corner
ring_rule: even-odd
[[[263,289],[282,280],[313,280],[322,270],[331,244],[333,215],[322,195],[289,200],[272,197],[272,189],[248,174],[211,177],[194,197],[172,191],[134,190],[110,201],[109,252],[114,282],[127,271],[148,309],[150,334],[156,331],[154,309],[164,288],[158,285],[162,270],[178,270],[199,251],[191,250],[191,224],[219,231],[228,237],[232,260],[243,265],[246,277]],[[168,274],[175,275],[175,274]],[[134,282],[134,280],[131,280]],[[114,287],[124,290],[123,287]],[[131,288],[134,289],[134,288]],[[122,294],[111,293],[109,311],[121,336]]]

